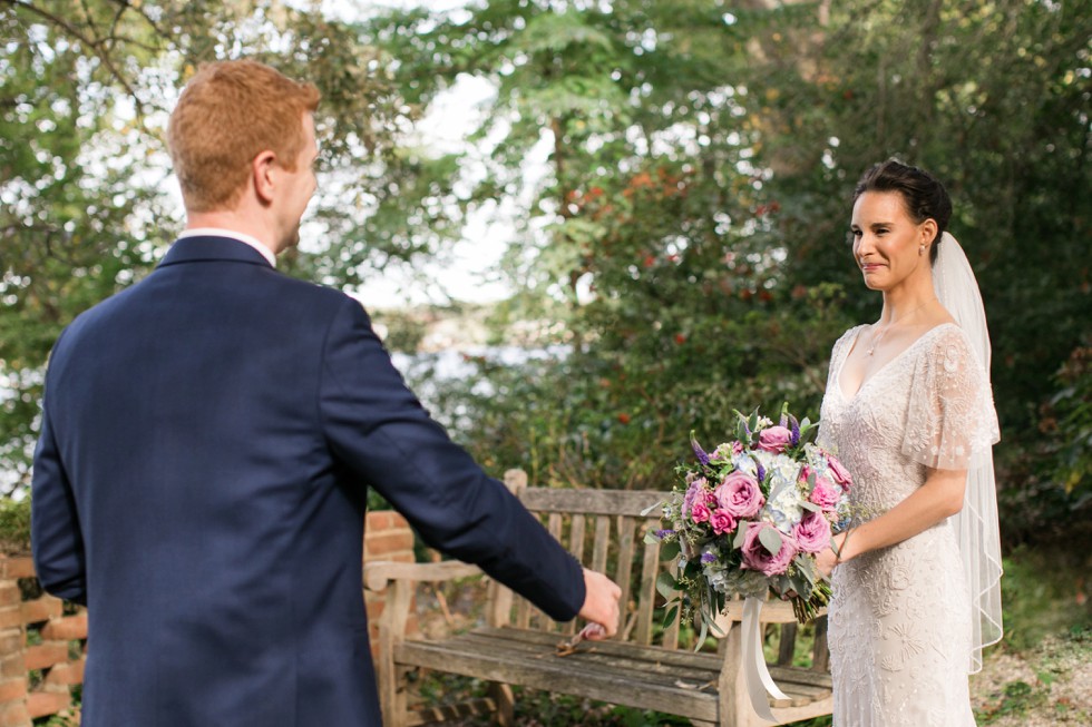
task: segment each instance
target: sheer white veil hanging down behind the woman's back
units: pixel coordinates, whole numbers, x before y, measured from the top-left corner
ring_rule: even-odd
[[[986,312],[967,256],[956,238],[944,233],[933,266],[933,285],[937,297],[956,320],[978,356],[986,381],[989,381],[989,332]],[[992,391],[992,387],[991,387]],[[987,402],[989,416],[996,417],[993,399]],[[953,518],[959,553],[975,618],[971,649],[971,672],[982,669],[983,647],[1001,640],[1001,533],[997,523],[997,491],[994,459],[989,448],[975,452],[967,469],[967,492],[963,510]]]

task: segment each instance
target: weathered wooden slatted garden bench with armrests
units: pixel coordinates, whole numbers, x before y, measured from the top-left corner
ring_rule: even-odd
[[[457,561],[370,562],[364,567],[365,587],[386,591],[387,598],[379,623],[378,662],[384,725],[406,727],[487,713],[500,724],[511,724],[510,685],[654,709],[686,717],[695,725],[769,724],[754,714],[739,669],[742,608],[730,608],[725,615],[727,635],[715,654],[694,652],[692,645],[681,647],[677,617],[664,628],[657,621],[662,612],[656,606],[659,601],[662,607],[663,598],[656,592],[656,577],[671,564],[661,562],[659,544],[644,542],[644,533],[660,527],[659,512],[641,513],[664,493],[527,488],[526,474],[518,470],[509,471],[505,480],[582,563],[606,572],[622,588],[618,636],[582,642],[572,654],[560,656],[558,644],[571,638],[577,625],[557,625],[490,581],[482,627],[440,640],[407,639],[404,625],[417,583],[480,571]],[[797,631],[792,609],[769,602],[762,620],[783,625],[779,658],[770,668],[789,697],[770,700],[779,724],[830,714],[826,617],[817,621],[812,665],[807,668],[792,666]],[[420,669],[475,677],[493,686],[487,698],[458,707],[411,705],[408,677]]]

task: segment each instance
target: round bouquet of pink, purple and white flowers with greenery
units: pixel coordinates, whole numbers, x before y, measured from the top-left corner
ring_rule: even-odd
[[[647,537],[663,558],[679,559],[677,577],[657,583],[673,606],[667,618],[679,607],[699,616],[700,641],[735,596],[772,592],[799,621],[815,618],[830,597],[816,554],[849,524],[849,472],[808,441],[815,424],[788,405],[777,424],[757,410],[737,414],[735,439],[710,453],[691,434],[695,460],[679,466],[682,482],[661,503],[664,529]]]

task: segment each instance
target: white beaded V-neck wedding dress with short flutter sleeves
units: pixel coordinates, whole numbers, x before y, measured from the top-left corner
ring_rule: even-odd
[[[867,379],[841,370],[864,326],[835,344],[819,444],[854,477],[862,520],[890,510],[927,468],[966,469],[997,441],[988,382],[963,331],[942,324]],[[829,645],[836,727],[972,727],[972,598],[953,520],[835,568]]]

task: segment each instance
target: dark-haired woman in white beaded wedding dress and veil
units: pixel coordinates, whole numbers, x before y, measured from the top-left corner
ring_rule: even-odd
[[[819,557],[836,727],[974,725],[967,674],[1001,639],[989,338],[950,214],[894,160],[854,195],[854,259],[884,310],[835,344],[821,410],[862,521]]]

